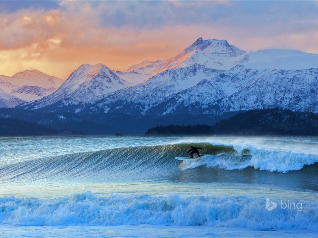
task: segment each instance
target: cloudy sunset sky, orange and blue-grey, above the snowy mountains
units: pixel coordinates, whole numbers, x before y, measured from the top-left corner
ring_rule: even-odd
[[[245,51],[318,53],[318,0],[0,0],[0,75],[62,79],[81,64],[125,70],[168,59],[199,37]]]

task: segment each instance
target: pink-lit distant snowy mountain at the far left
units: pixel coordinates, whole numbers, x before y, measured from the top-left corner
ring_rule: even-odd
[[[37,70],[25,70],[12,77],[0,76],[0,89],[22,101],[33,101],[51,94],[63,82]]]

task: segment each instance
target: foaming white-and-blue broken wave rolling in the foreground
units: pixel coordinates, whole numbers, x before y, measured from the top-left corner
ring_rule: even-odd
[[[254,230],[318,230],[317,203],[302,204],[301,209],[278,206],[267,211],[266,200],[244,196],[189,197],[171,194],[96,197],[86,192],[43,200],[2,197],[0,204],[0,223],[18,226],[174,223]]]

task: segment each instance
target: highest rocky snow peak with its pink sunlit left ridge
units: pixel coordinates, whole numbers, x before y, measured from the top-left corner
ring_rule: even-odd
[[[134,83],[142,83],[167,69],[183,68],[193,64],[204,65],[207,68],[228,70],[242,63],[247,52],[230,45],[226,40],[197,39],[179,55],[158,61],[144,61],[121,73],[121,77]],[[132,69],[131,71],[129,71]],[[129,75],[130,74],[130,75]],[[139,80],[138,80],[139,79]]]

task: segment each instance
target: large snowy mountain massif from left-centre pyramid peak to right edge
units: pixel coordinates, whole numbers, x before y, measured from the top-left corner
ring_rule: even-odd
[[[156,116],[273,107],[318,112],[317,77],[318,54],[246,52],[225,40],[199,38],[173,58],[124,72],[82,65],[52,95],[21,107]]]

